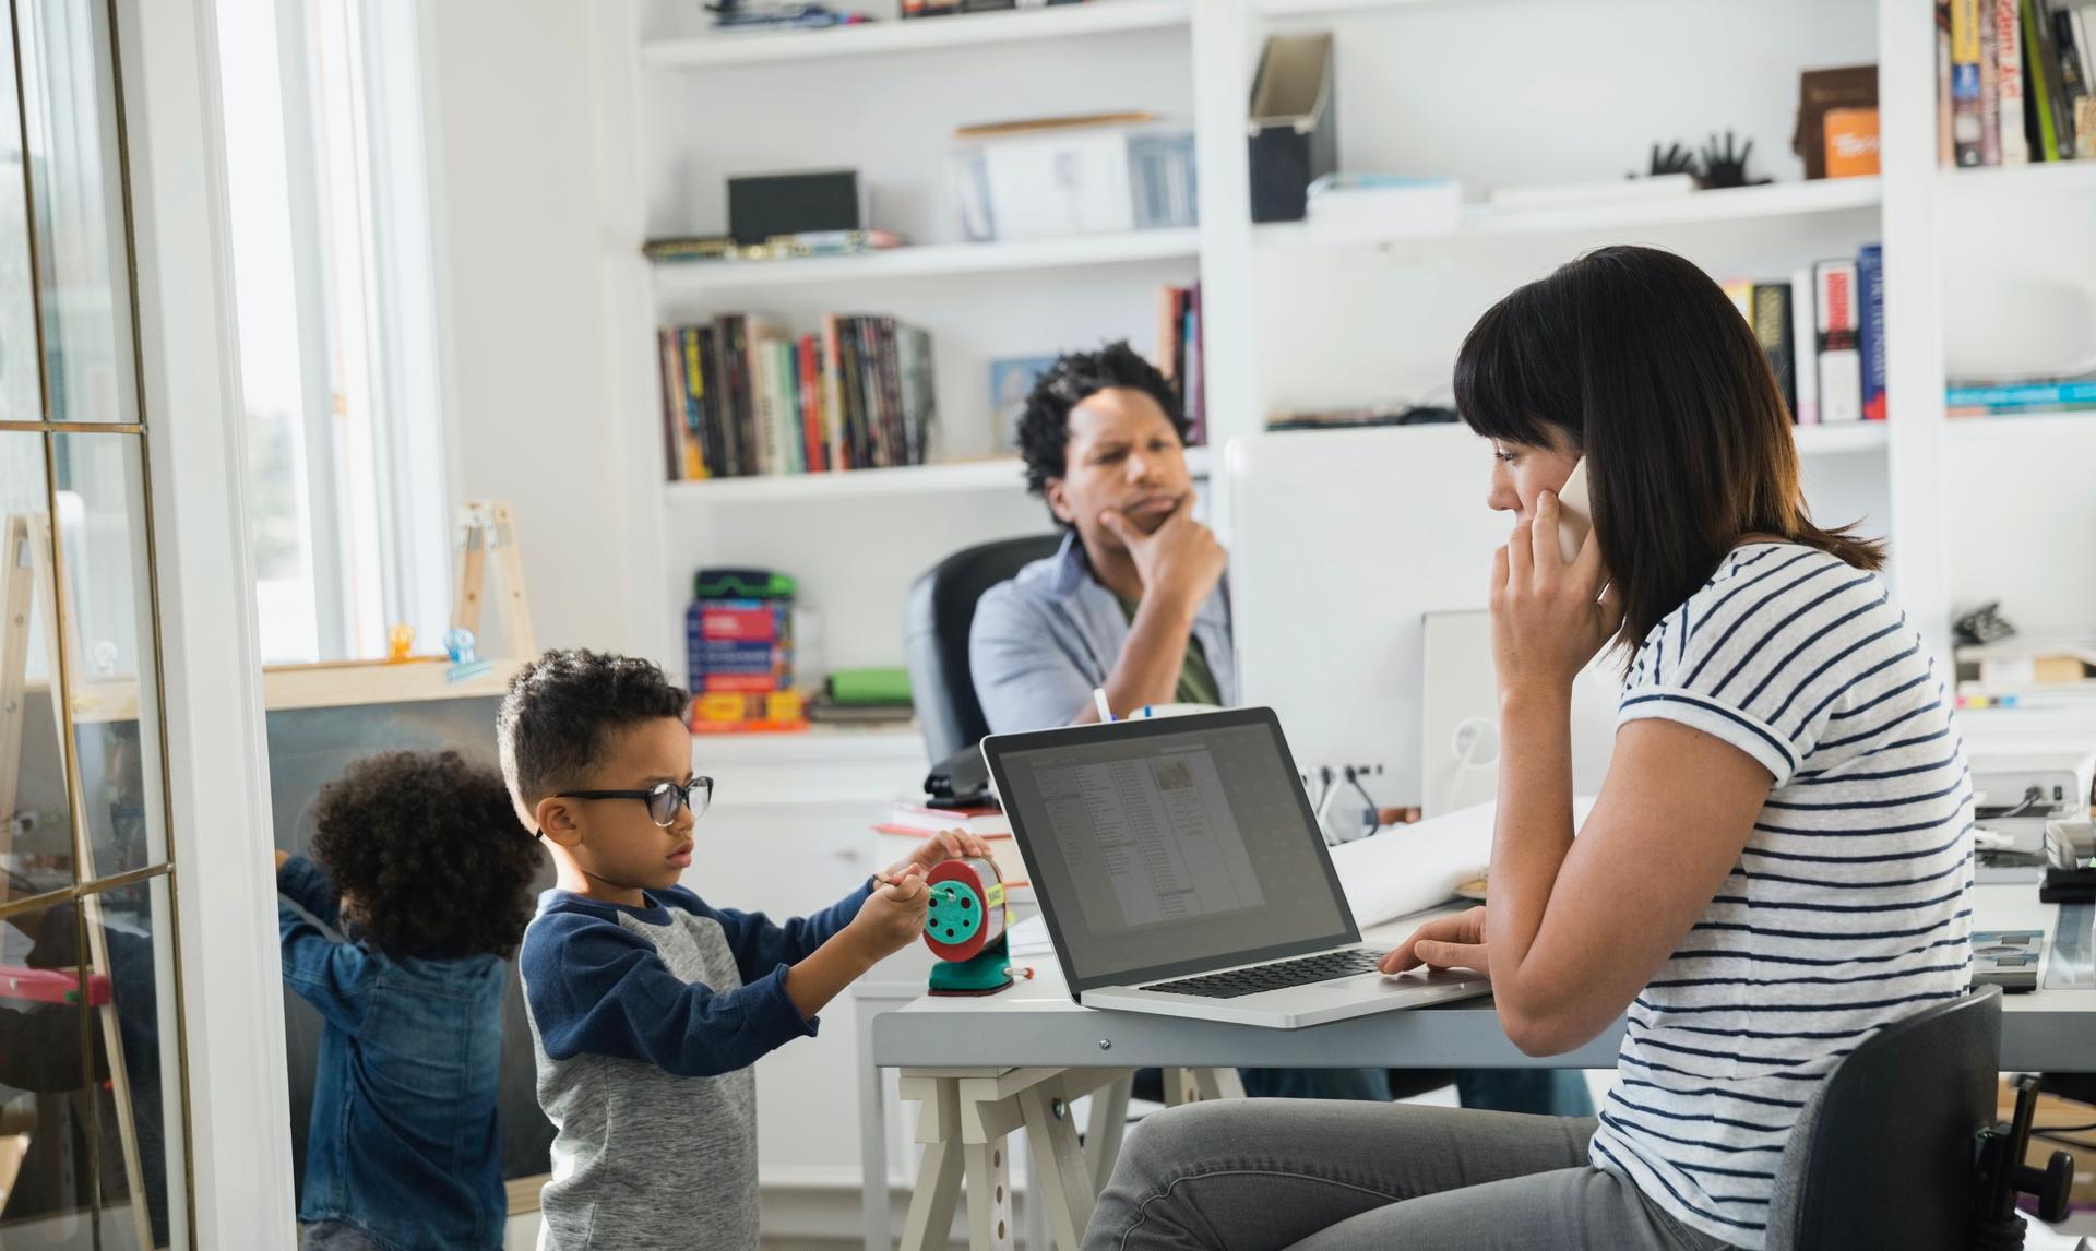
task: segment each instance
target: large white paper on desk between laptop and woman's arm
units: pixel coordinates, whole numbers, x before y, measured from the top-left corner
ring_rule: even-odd
[[[1360,928],[1446,903],[1455,888],[1492,863],[1497,803],[1392,826],[1373,838],[1331,849],[1346,905]],[[1572,800],[1572,828],[1587,824],[1593,798]]]

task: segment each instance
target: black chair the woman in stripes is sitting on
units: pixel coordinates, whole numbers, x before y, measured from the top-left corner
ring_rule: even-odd
[[[2073,1159],[2023,1165],[2035,1090],[1995,1125],[2002,989],[1918,1012],[1874,1033],[1813,1094],[1775,1167],[1769,1251],[2023,1245],[2016,1194],[2039,1220],[2067,1217]]]

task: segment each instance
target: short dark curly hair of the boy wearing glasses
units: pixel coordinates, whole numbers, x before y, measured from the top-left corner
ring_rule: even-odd
[[[526,662],[495,715],[518,817],[537,832],[539,800],[583,786],[612,733],[658,717],[681,721],[690,702],[654,660],[566,648]]]

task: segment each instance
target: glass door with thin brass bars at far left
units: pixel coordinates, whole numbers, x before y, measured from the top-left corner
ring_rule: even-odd
[[[17,0],[0,44],[0,1245],[189,1247],[111,15]]]

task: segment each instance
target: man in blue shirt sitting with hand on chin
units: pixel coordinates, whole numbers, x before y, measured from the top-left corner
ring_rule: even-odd
[[[1144,706],[1235,704],[1228,553],[1193,518],[1186,417],[1163,373],[1126,342],[1056,358],[1019,417],[1027,488],[1063,549],[983,593],[968,671],[991,733],[1098,721]],[[1245,1092],[1392,1096],[1381,1069],[1247,1069]],[[1396,1073],[1400,1094],[1446,1075]],[[1578,1073],[1459,1073],[1465,1106],[1593,1115]]]

